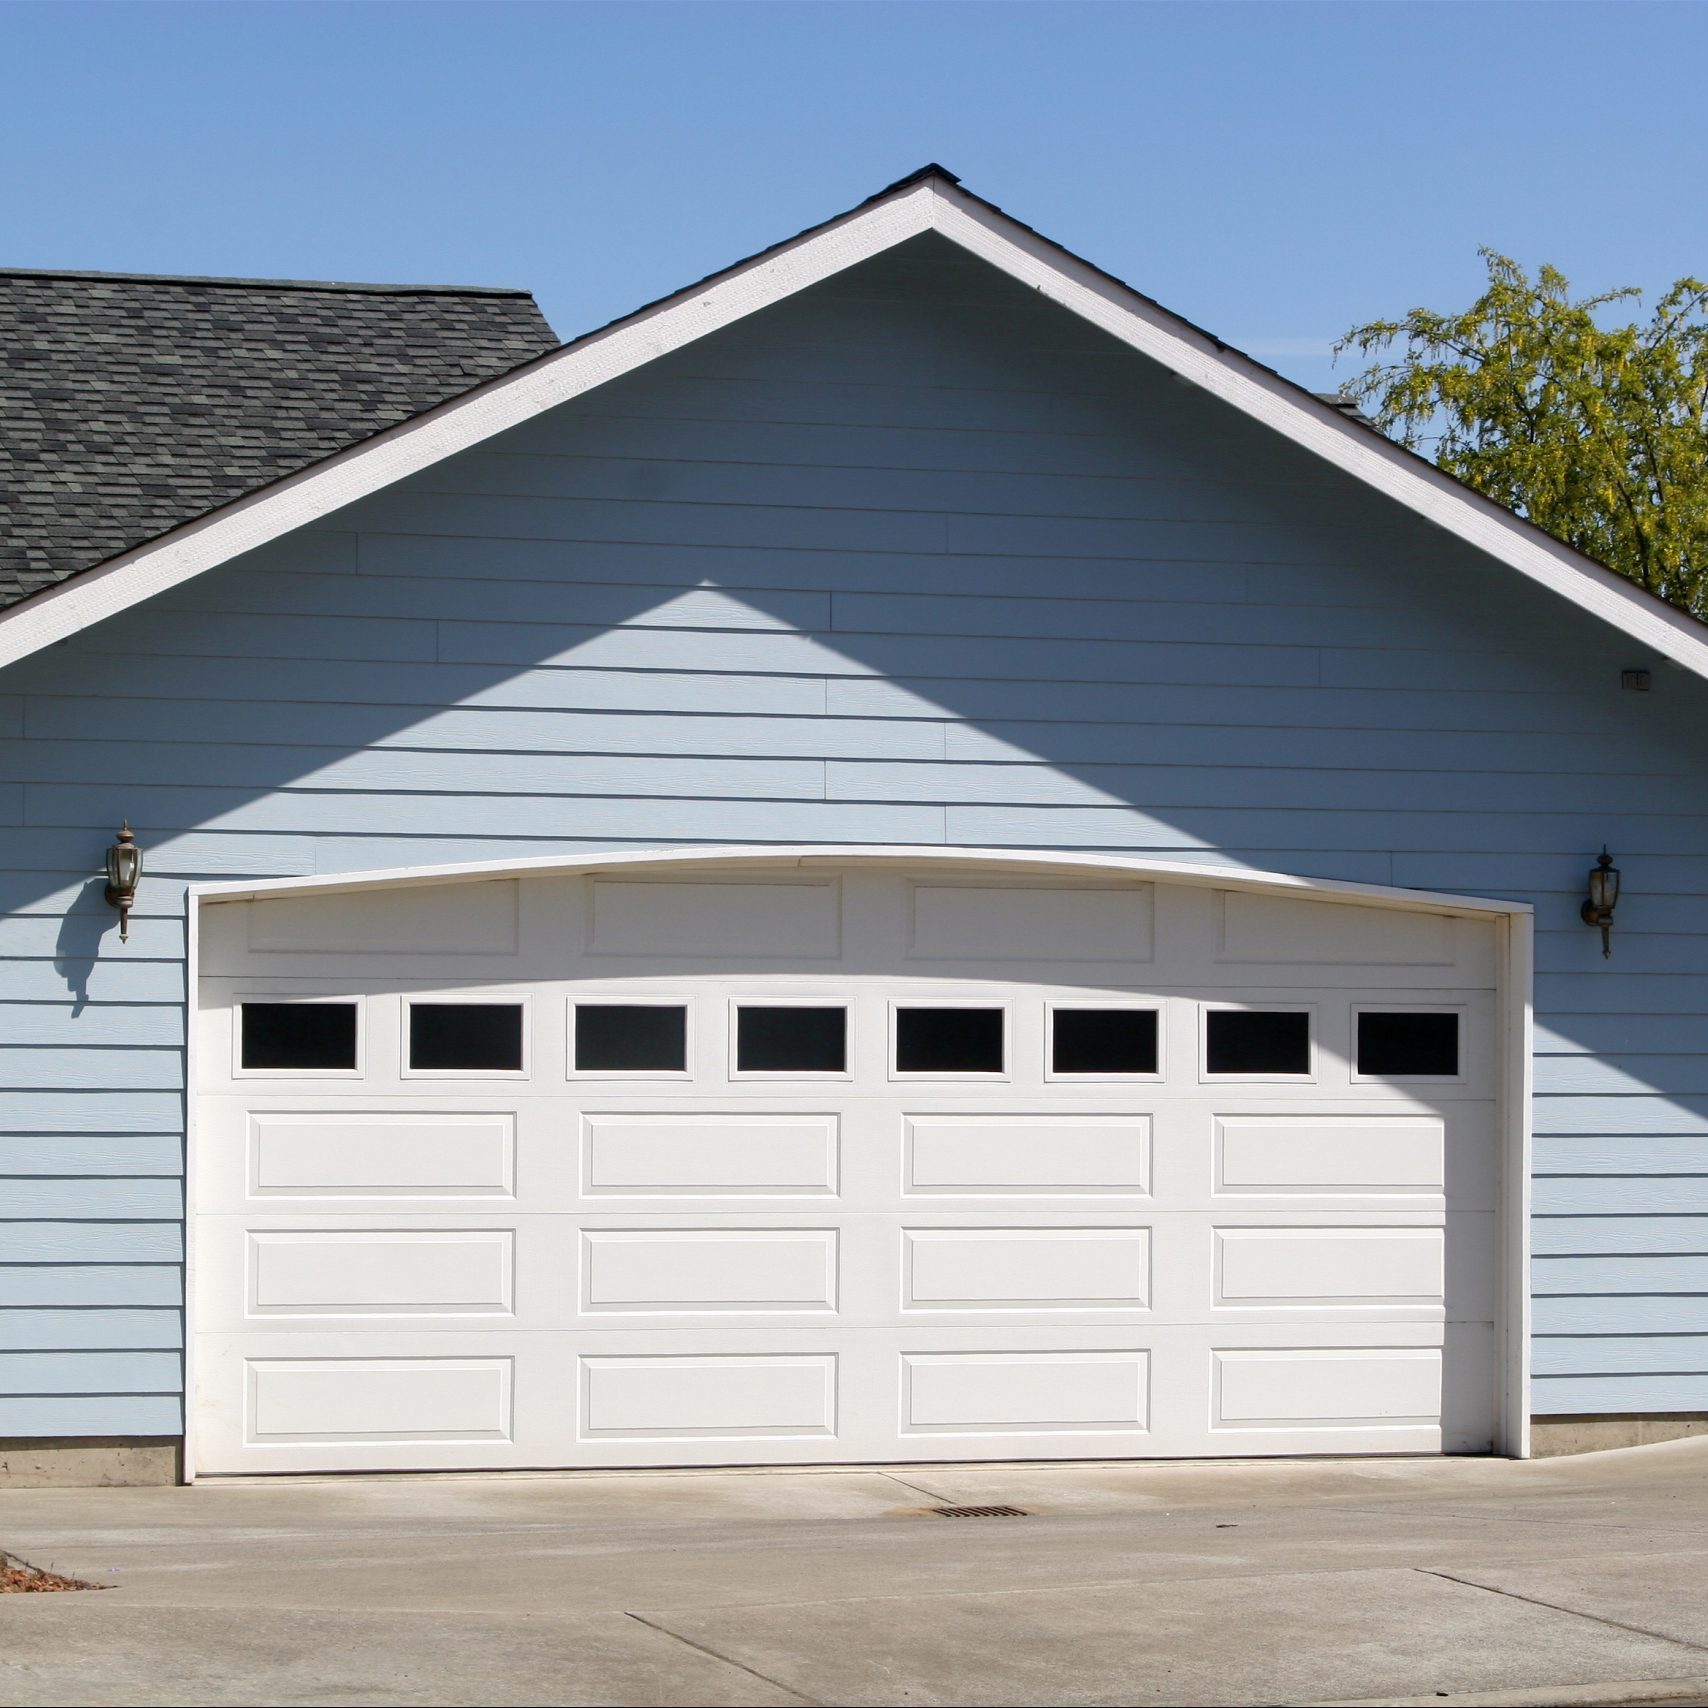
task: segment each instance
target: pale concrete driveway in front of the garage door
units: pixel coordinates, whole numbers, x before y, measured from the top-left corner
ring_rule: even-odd
[[[1708,1440],[10,1491],[0,1546],[116,1585],[0,1597],[17,1705],[1708,1701]]]

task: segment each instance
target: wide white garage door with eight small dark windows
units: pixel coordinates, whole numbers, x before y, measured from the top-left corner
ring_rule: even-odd
[[[208,905],[198,1469],[1484,1450],[1493,929],[852,864]]]

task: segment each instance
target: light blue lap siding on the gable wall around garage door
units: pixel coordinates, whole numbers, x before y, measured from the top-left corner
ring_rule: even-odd
[[[905,244],[0,673],[0,1436],[178,1430],[186,881],[804,840],[1534,904],[1537,1404],[1705,1411],[1705,717]]]

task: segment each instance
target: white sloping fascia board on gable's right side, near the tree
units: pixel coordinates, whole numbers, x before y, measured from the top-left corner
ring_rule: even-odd
[[[936,229],[1325,463],[1708,676],[1708,627],[951,184]]]

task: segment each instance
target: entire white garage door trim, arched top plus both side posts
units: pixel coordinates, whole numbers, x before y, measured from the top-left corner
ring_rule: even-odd
[[[196,1279],[196,1004],[200,987],[202,909],[220,902],[254,900],[284,893],[336,893],[372,888],[415,888],[459,880],[514,874],[574,874],[608,868],[803,868],[815,863],[936,866],[967,871],[1015,873],[1127,873],[1163,878],[1175,885],[1238,890],[1257,895],[1298,895],[1346,905],[1387,910],[1440,912],[1450,909],[1481,914],[1496,926],[1496,1006],[1500,1015],[1500,1064],[1496,1097],[1500,1107],[1500,1310],[1496,1360],[1501,1372],[1498,1450],[1525,1459],[1530,1452],[1530,1033],[1534,914],[1527,904],[1465,897],[1433,890],[1402,890],[1387,885],[1339,883],[1291,873],[1247,871],[1230,866],[1184,864],[1170,859],[1098,854],[1016,854],[1006,849],[897,847],[897,845],[804,845],[775,847],[721,845],[695,851],[658,849],[570,857],[535,857],[447,866],[412,866],[360,874],[278,878],[260,881],[196,883],[186,893],[188,929],[188,1062],[186,1085],[186,1204],[184,1204],[184,1477],[195,1477],[195,1279]]]

